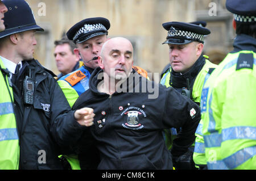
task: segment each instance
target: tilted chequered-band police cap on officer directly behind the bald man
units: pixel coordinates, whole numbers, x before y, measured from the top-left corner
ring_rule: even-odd
[[[106,18],[87,18],[71,27],[67,36],[69,40],[73,40],[75,43],[82,43],[94,36],[108,35],[109,28],[110,22]]]

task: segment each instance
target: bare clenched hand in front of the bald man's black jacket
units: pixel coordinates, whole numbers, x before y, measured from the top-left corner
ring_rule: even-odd
[[[95,114],[93,113],[92,108],[84,107],[80,110],[76,110],[74,116],[77,120],[77,123],[86,127],[90,127],[91,125],[93,125],[93,117],[95,116]]]

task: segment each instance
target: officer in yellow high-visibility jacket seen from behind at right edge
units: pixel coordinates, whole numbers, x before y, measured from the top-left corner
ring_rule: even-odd
[[[227,0],[236,31],[201,98],[208,169],[256,169],[256,1]],[[213,157],[214,153],[214,157]]]

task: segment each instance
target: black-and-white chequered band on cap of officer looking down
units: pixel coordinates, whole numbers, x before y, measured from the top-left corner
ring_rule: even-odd
[[[168,31],[167,39],[175,36],[178,36],[178,37],[180,36],[180,37],[184,37],[185,39],[204,42],[204,35],[200,35],[198,33],[190,32],[190,31],[175,30],[174,27],[171,27],[170,30]]]

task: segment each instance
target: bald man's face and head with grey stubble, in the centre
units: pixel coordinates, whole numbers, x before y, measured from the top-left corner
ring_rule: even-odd
[[[126,79],[133,66],[133,45],[122,37],[110,39],[104,45],[99,64],[108,77],[115,80]]]

